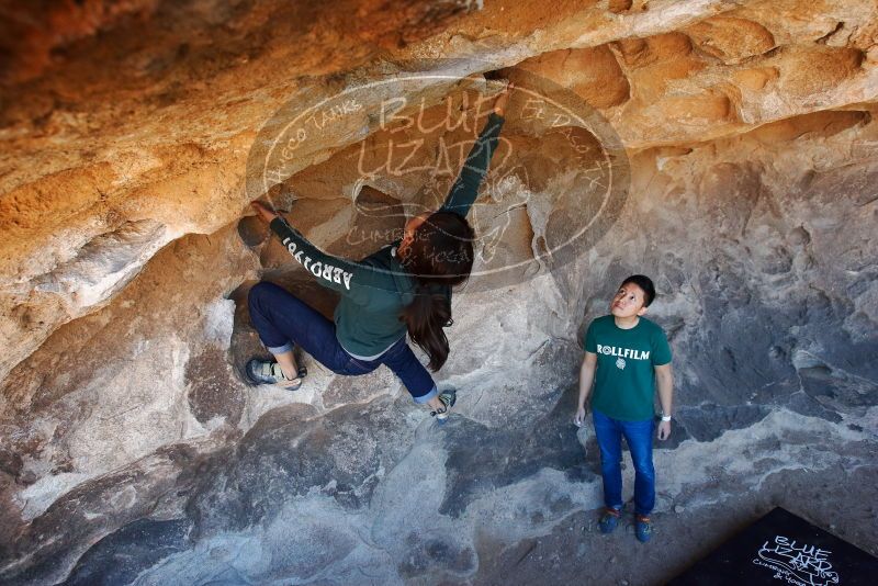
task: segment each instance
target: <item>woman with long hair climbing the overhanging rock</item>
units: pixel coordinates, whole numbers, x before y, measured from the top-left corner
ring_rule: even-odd
[[[454,392],[436,383],[406,343],[406,333],[438,371],[448,359],[451,288],[466,281],[473,266],[474,232],[466,213],[479,192],[497,146],[513,84],[494,102],[487,124],[473,145],[444,204],[406,222],[403,238],[359,262],[326,255],[286,219],[254,202],[290,253],[317,282],[341,300],[330,322],[284,289],[260,282],[250,289],[250,320],[275,361],[251,359],[247,375],[258,384],[294,391],[306,369],[296,365],[293,345],[338,374],[365,374],[387,365],[415,403],[428,404],[438,419],[448,417]]]

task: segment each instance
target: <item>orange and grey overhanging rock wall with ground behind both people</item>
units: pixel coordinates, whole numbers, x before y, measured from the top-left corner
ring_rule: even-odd
[[[661,584],[775,506],[878,554],[874,2],[0,14],[0,584]],[[338,300],[249,202],[360,259],[441,204],[498,80],[449,421],[384,367],[249,383],[254,284]],[[674,351],[646,545],[599,533],[572,422],[632,273]]]

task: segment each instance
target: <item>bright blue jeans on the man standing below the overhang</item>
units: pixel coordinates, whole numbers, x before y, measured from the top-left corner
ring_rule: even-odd
[[[634,463],[634,512],[649,515],[655,506],[655,469],[652,465],[653,419],[621,421],[592,409],[595,436],[600,448],[600,474],[604,476],[604,504],[622,508],[622,436]]]

